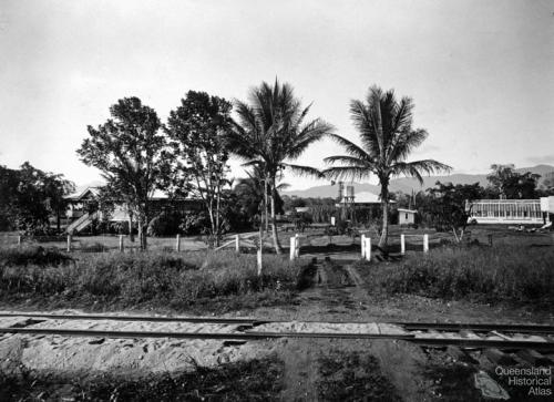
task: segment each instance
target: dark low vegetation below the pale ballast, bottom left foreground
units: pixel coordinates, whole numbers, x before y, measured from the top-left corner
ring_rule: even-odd
[[[111,374],[80,381],[53,374],[0,373],[2,401],[276,401],[284,364],[275,355],[217,369],[122,379]]]

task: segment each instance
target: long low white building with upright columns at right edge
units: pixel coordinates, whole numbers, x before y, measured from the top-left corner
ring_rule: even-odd
[[[541,199],[475,199],[465,205],[475,224],[543,225],[554,214],[554,196]]]

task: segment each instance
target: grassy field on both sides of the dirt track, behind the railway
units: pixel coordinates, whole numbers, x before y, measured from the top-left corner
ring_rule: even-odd
[[[452,244],[453,237],[448,233],[392,226],[390,248],[393,252],[399,251],[401,233],[429,234],[431,250],[421,252],[421,236],[407,237],[408,252],[402,260],[358,261],[357,268],[373,295],[412,293],[444,300],[511,301],[544,308],[554,300],[552,233],[474,226],[468,234],[470,241],[460,246]],[[284,244],[289,236],[291,234],[283,234]],[[295,292],[314,284],[315,270],[309,258],[291,264],[287,252],[284,256],[265,254],[264,275],[258,277],[253,254],[208,251],[198,239],[183,243],[195,245],[191,249],[197,251],[175,252],[168,246],[174,245],[175,239],[152,238],[147,252],[127,249],[123,254],[113,250],[117,237],[107,239],[111,241],[106,243],[111,249],[107,252],[95,252],[105,250],[103,244],[96,241],[99,238],[88,238],[89,246],[71,254],[60,251],[55,243],[0,247],[0,301],[45,301],[51,307],[95,309],[164,306],[176,310],[226,311],[287,303]],[[269,243],[268,238],[267,247]],[[304,234],[301,254],[343,254],[358,258],[359,247],[359,238],[330,238],[321,230],[309,230]]]

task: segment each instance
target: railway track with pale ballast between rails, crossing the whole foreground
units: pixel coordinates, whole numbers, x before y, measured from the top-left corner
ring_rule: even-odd
[[[122,328],[121,322],[117,324],[119,321],[138,328]],[[162,327],[144,329],[141,323],[145,322]],[[167,328],[172,326],[173,328]],[[0,312],[0,337],[1,334],[240,341],[279,338],[386,339],[430,348],[453,346],[465,349],[554,352],[554,326],[543,324],[295,322],[254,318]]]

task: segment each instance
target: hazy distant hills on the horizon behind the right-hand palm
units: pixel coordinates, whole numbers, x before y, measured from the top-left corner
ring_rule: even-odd
[[[537,165],[533,167],[521,167],[515,169],[519,173],[525,173],[525,172],[531,172],[538,174],[541,176],[545,176],[548,173],[554,173],[554,166],[551,165]],[[437,182],[441,183],[448,183],[451,182],[452,184],[473,184],[473,183],[480,183],[482,186],[486,186],[489,184],[489,181],[486,179],[486,176],[489,173],[485,174],[475,174],[475,175],[470,175],[470,174],[462,174],[462,173],[456,173],[448,176],[429,176],[425,177],[423,176],[423,185],[421,186],[419,182],[416,178],[411,177],[401,177],[401,178],[396,178],[390,181],[390,190],[391,192],[402,192],[402,193],[411,193],[412,189],[414,192],[419,190],[424,190],[429,187],[433,187]],[[541,183],[541,181],[538,181]],[[365,183],[352,183],[355,186],[355,192],[360,193],[360,192],[371,192],[373,194],[379,194],[380,193],[380,187],[372,185],[372,184],[365,184]],[[283,195],[288,195],[288,196],[297,196],[297,197],[302,197],[302,198],[325,198],[325,197],[334,197],[336,198],[338,196],[338,185],[324,185],[324,186],[316,186],[316,187],[310,187],[306,189],[297,189],[297,190],[289,190],[289,192],[283,192]]]

